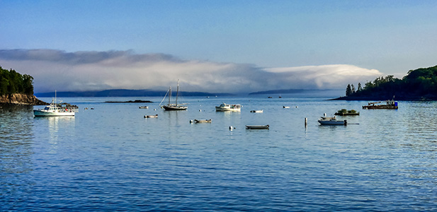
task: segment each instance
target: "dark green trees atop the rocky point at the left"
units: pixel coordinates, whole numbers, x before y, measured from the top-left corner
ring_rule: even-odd
[[[13,69],[3,69],[0,66],[0,95],[13,93],[33,95],[33,77],[28,74],[22,75]]]

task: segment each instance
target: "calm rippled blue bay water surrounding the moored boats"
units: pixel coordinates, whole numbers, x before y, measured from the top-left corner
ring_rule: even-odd
[[[135,99],[153,103],[104,102]],[[188,111],[164,112],[161,98],[62,100],[76,117],[1,109],[0,211],[437,210],[437,102],[185,98]],[[215,112],[221,102],[242,112]],[[361,115],[319,126],[342,108]]]

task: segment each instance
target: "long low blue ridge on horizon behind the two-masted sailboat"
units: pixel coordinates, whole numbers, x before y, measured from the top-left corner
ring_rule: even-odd
[[[129,89],[112,89],[100,91],[64,91],[57,92],[58,97],[159,97],[166,95],[167,91],[162,90],[129,90]],[[215,96],[215,95],[232,95],[231,93],[205,93],[205,92],[180,92],[183,96]],[[172,92],[176,95],[176,92]],[[55,96],[55,92],[35,93],[39,98],[51,98]]]

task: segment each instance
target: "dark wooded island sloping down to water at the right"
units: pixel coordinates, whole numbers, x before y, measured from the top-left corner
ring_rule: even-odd
[[[346,96],[334,100],[437,100],[437,66],[408,71],[402,79],[392,75],[378,77],[361,88],[349,84]]]

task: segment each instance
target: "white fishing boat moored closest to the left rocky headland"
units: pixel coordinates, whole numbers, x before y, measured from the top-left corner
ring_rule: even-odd
[[[33,110],[33,115],[35,117],[74,117],[79,107],[70,104],[61,105],[61,103],[62,101],[57,103],[55,90],[55,99],[52,99],[50,105],[45,106],[44,109]]]

